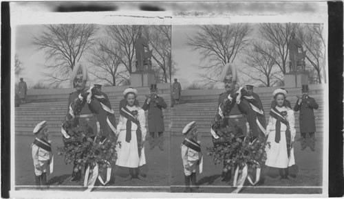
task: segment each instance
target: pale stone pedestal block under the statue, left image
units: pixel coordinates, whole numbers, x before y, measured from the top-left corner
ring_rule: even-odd
[[[138,71],[130,74],[130,85],[133,87],[147,87],[155,84],[154,71]]]

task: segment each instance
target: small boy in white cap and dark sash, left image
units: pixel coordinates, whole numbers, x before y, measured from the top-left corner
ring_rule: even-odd
[[[34,161],[34,180],[36,185],[47,185],[47,167],[50,166],[50,173],[52,173],[52,145],[48,141],[49,130],[47,128],[47,121],[41,121],[34,128],[34,135],[36,139],[31,145],[32,159]]]

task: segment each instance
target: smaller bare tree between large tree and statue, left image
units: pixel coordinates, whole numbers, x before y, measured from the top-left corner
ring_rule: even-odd
[[[122,84],[122,82],[129,79],[129,74],[127,69],[122,66],[122,61],[120,57],[120,51],[118,51],[118,46],[113,45],[109,47],[107,39],[100,40],[96,47],[92,49],[92,56],[89,58],[89,62],[92,63],[93,67],[89,73],[92,73],[98,80],[103,80],[111,86],[116,86]],[[105,50],[104,46],[107,46],[107,49],[111,49],[117,54],[113,54],[110,51]]]

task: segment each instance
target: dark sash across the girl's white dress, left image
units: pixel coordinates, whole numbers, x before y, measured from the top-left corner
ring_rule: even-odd
[[[131,141],[131,122],[135,123],[138,128],[136,130],[136,138],[138,139],[138,156],[141,156],[142,148],[142,132],[140,128],[140,121],[133,116],[133,112],[130,111],[127,107],[120,108],[120,115],[127,118],[127,134],[125,135],[125,141],[128,143]]]

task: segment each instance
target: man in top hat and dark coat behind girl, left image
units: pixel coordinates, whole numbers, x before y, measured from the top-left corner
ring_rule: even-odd
[[[142,106],[143,110],[148,110],[148,130],[149,130],[149,148],[152,150],[158,145],[160,150],[164,150],[164,115],[162,108],[167,108],[164,98],[157,95],[158,88],[156,84],[151,84],[151,95],[147,95],[147,99]],[[155,136],[158,132],[158,136]]]

